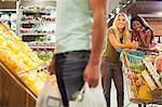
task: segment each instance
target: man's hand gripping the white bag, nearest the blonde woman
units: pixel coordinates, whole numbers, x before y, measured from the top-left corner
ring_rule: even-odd
[[[84,70],[84,81],[89,83],[90,86],[97,86],[99,79],[99,66],[89,63]]]

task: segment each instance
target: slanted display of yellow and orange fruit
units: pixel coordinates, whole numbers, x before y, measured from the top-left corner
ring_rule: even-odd
[[[40,94],[48,77],[53,84],[56,83],[55,76],[48,76],[45,69],[37,70],[44,65],[43,61],[3,23],[0,23],[0,63],[19,77],[36,95]]]

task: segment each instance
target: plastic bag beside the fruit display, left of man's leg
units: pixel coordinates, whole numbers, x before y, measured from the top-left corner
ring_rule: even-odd
[[[57,83],[52,85],[50,78],[38,96],[36,107],[64,107]]]

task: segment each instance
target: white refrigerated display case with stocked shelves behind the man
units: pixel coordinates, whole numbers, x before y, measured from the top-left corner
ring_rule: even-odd
[[[45,63],[50,62],[55,49],[55,0],[17,2],[17,34]]]

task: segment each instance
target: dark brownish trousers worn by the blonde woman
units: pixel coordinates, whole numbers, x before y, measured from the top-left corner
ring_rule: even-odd
[[[117,89],[118,107],[123,107],[124,91],[123,91],[123,73],[121,63],[110,63],[107,58],[102,59],[102,83],[104,94],[107,102],[107,107],[110,107],[110,89],[111,79],[113,79]]]

